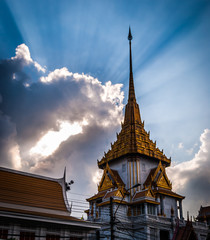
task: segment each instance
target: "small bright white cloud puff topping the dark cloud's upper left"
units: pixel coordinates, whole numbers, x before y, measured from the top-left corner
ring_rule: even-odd
[[[19,46],[17,46],[16,50],[15,50],[15,57],[12,57],[12,60],[21,60],[24,65],[34,65],[34,67],[40,72],[45,72],[46,69],[43,68],[39,63],[37,63],[36,61],[34,61],[31,58],[31,54],[29,51],[28,46],[26,46],[24,43],[20,44]]]

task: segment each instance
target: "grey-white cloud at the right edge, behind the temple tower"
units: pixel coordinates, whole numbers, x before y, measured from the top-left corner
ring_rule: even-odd
[[[185,212],[197,214],[200,205],[210,204],[210,129],[200,136],[200,149],[190,161],[167,169],[173,190],[186,196]]]

